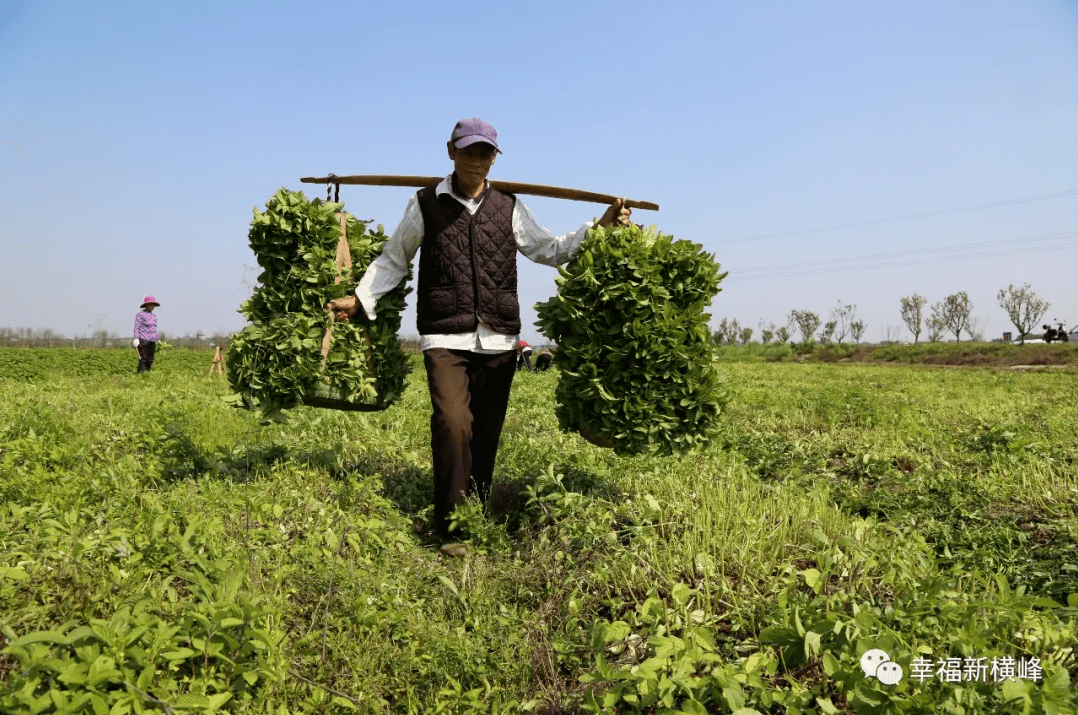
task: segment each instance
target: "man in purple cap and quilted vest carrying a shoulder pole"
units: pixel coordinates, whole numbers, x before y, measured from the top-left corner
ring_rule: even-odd
[[[446,149],[453,173],[412,196],[356,295],[327,307],[347,321],[362,305],[373,320],[378,299],[400,285],[423,246],[416,312],[433,410],[434,527],[446,541],[441,552],[460,555],[467,548],[448,542],[450,513],[469,494],[486,499],[516,372],[516,253],[567,263],[591,224],[555,236],[515,195],[493,189],[486,177],[501,150],[487,122],[460,120]],[[619,200],[598,223],[628,225],[630,212]]]

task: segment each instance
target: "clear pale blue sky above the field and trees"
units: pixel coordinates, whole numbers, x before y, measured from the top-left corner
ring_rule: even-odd
[[[167,333],[238,330],[253,207],[444,175],[472,115],[492,178],[660,204],[635,220],[730,272],[713,325],[841,301],[876,341],[965,290],[995,338],[1023,283],[1078,324],[1074,0],[0,5],[0,327],[126,334],[153,293]],[[341,197],[391,230],[412,191]],[[520,270],[541,342],[556,271]]]

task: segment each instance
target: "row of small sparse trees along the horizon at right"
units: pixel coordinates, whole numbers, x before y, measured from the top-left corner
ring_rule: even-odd
[[[996,299],[1018,330],[1017,340],[1020,342],[1034,336],[1033,330],[1051,306],[1033,291],[1029,284],[1020,287],[1011,284],[1000,289]],[[913,335],[914,343],[920,342],[922,333],[932,343],[948,334],[953,334],[956,342],[962,341],[963,334],[972,341],[984,341],[983,322],[973,317],[973,303],[966,291],[952,293],[932,303],[928,306],[927,315],[926,305],[928,300],[918,293],[899,299],[899,316]],[[760,320],[758,327],[759,342],[764,344],[796,342],[800,336],[801,343],[825,345],[841,344],[847,338],[855,344],[860,343],[867,328],[865,321],[857,317],[857,305],[843,303],[841,300],[827,321],[813,311],[793,310],[787,315],[785,326]],[[888,327],[885,342],[897,342],[897,328]],[[736,318],[724,317],[711,333],[711,340],[720,345],[744,345],[752,342],[754,334],[756,333],[751,327],[743,327]],[[1039,334],[1037,333],[1038,336]]]

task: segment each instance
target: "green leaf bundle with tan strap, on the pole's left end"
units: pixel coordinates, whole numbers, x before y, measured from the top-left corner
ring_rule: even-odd
[[[332,326],[322,368],[322,335],[330,326],[323,305],[353,293],[387,236],[382,225],[345,214],[353,267],[336,264],[344,204],[307,201],[302,192],[279,190],[264,211],[254,210],[248,234],[263,271],[259,287],[240,307],[251,325],[229,344],[229,383],[237,407],[266,415],[306,401],[342,409],[382,410],[404,391],[411,363],[397,332],[407,278],[384,295],[377,317],[360,310],[351,322]],[[370,356],[370,357],[369,357]]]

